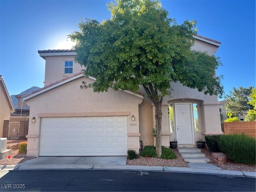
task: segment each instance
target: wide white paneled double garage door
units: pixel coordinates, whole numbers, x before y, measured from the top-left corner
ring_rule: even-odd
[[[40,156],[126,156],[127,117],[42,118]]]

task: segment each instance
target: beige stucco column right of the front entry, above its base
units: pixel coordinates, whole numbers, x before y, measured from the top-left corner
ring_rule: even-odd
[[[220,113],[218,103],[202,103],[201,107],[201,134],[218,135],[223,134],[220,124]]]

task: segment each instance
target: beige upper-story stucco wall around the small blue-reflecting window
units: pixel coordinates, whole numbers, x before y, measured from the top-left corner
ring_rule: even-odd
[[[46,56],[44,85],[49,85],[72,74],[64,74],[65,61],[73,61],[73,74],[80,72],[84,67],[74,62],[74,55]]]

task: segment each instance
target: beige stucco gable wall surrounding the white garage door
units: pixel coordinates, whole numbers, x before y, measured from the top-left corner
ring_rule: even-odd
[[[111,88],[108,92],[94,93],[92,88],[80,88],[82,81],[86,81],[86,85],[94,80],[80,77],[64,85],[58,86],[52,90],[44,92],[38,96],[26,100],[30,105],[30,119],[36,117],[35,123],[29,124],[28,129],[28,156],[38,156],[39,154],[39,134],[41,117],[64,116],[70,114],[72,116],[84,115],[88,113],[95,116],[102,114],[107,116],[109,113],[113,116],[122,115],[128,112],[128,148],[139,152],[139,104],[142,98],[129,94],[121,90],[114,91]],[[135,121],[131,120],[131,116],[135,116]],[[136,126],[130,126],[136,124]]]

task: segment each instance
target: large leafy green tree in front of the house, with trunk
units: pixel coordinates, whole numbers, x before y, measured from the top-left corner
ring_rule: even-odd
[[[80,32],[68,35],[76,42],[75,60],[86,67],[85,76],[96,81],[95,92],[133,90],[141,85],[156,107],[156,150],[161,156],[162,101],[170,95],[170,82],[222,95],[219,58],[191,50],[195,21],[177,24],[158,0],[116,0],[108,4],[111,18],[85,19]],[[151,128],[150,128],[151,129]]]

